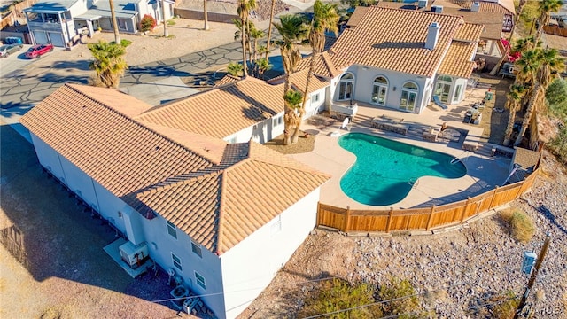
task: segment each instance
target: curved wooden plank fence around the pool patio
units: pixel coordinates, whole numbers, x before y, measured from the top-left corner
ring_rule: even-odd
[[[448,227],[508,204],[530,190],[540,168],[524,181],[498,187],[492,191],[458,202],[424,208],[358,210],[319,203],[317,226],[344,232],[384,232],[432,230]]]

